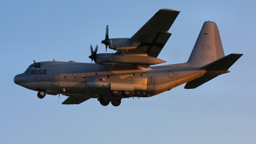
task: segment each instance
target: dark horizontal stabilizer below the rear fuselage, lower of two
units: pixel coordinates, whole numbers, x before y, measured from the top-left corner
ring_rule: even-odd
[[[193,89],[197,88],[198,86],[206,83],[207,81],[210,81],[211,79],[214,79],[217,76],[202,76],[198,77],[197,79],[194,79],[193,81],[189,81],[186,83],[185,87],[186,89]]]

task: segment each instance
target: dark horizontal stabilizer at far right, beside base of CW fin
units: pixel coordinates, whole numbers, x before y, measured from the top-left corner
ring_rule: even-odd
[[[204,70],[228,70],[241,56],[243,56],[243,54],[228,54],[202,68],[204,68]]]

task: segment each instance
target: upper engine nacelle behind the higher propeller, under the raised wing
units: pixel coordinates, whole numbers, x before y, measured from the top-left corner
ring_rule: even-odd
[[[116,51],[124,51],[129,49],[136,49],[141,43],[134,42],[131,38],[110,38],[109,49]]]

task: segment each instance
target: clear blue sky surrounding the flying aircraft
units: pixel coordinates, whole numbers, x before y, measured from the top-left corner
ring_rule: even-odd
[[[0,143],[256,143],[255,1],[0,1]],[[179,10],[158,58],[188,60],[202,24],[216,22],[230,73],[118,107],[96,99],[65,106],[13,83],[36,61],[90,63],[90,45],[131,37],[161,8]],[[108,52],[115,52],[108,49]]]

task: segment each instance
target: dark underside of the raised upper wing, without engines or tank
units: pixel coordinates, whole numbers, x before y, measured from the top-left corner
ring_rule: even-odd
[[[168,30],[179,13],[179,11],[171,9],[159,10],[131,37],[132,41],[141,43],[131,51],[134,53],[147,52],[148,56],[156,58],[172,35],[168,33]]]

